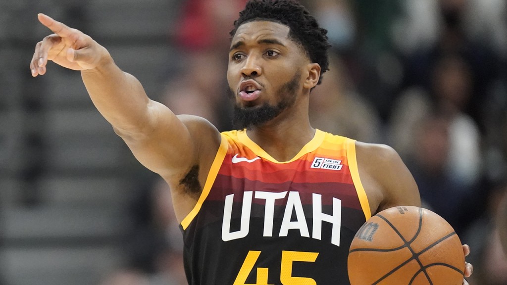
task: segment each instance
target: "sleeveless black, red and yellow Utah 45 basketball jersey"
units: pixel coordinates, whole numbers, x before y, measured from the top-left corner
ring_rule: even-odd
[[[279,162],[245,131],[223,132],[180,224],[189,284],[349,284],[350,243],[370,216],[354,140],[316,130]]]

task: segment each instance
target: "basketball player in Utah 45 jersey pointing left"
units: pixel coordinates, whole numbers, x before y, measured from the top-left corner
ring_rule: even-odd
[[[38,17],[54,34],[37,44],[32,76],[48,60],[80,70],[98,111],[167,181],[190,284],[348,284],[360,226],[380,210],[420,206],[393,149],[310,125],[308,99],[328,69],[329,44],[293,1],[251,1],[235,22],[227,79],[238,130],[223,133],[150,100],[88,35]]]

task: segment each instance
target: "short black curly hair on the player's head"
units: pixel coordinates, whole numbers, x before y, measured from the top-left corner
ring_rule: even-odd
[[[294,0],[250,0],[234,21],[231,39],[238,27],[252,21],[272,21],[289,27],[289,38],[300,44],[312,62],[320,65],[320,78],[329,70],[328,30],[321,28],[310,12]]]

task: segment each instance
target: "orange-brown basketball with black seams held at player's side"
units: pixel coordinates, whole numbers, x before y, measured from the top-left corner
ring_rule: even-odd
[[[462,285],[464,269],[452,226],[415,206],[392,207],[370,218],[348,256],[351,285]]]

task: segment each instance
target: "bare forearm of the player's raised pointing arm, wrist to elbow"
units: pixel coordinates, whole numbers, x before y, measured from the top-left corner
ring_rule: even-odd
[[[150,99],[139,81],[123,72],[111,58],[81,72],[97,110],[116,129],[140,133],[150,127]]]

